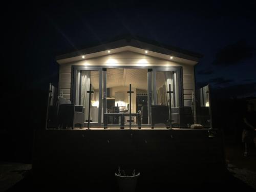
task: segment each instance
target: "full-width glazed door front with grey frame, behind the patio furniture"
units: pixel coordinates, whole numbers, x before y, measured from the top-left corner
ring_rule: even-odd
[[[142,127],[152,124],[152,105],[169,105],[172,108],[183,106],[182,68],[181,67],[72,67],[72,95],[71,100],[76,105],[84,107],[84,126],[86,121],[92,121],[91,126],[103,126],[104,114],[117,113],[116,119],[108,118],[110,126],[120,125],[124,116],[124,126],[128,126],[130,98],[127,91],[132,84],[131,113],[133,125],[138,120],[136,114],[141,114]],[[89,99],[91,84],[91,100]],[[172,95],[167,91],[171,85]],[[89,101],[90,100],[90,101]],[[89,117],[89,105],[91,113]],[[127,116],[127,117],[126,117]],[[113,116],[113,118],[115,118]]]

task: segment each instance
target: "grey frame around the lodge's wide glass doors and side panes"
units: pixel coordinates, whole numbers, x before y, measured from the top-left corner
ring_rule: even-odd
[[[103,126],[101,122],[102,114],[106,110],[106,69],[148,69],[147,72],[147,95],[148,95],[148,125],[151,125],[151,105],[156,104],[156,72],[157,71],[175,71],[177,74],[177,90],[179,105],[184,105],[183,100],[183,73],[181,66],[72,66],[71,68],[71,101],[75,103],[77,87],[77,71],[90,70],[99,71],[99,114],[98,123],[92,123],[92,126]],[[153,86],[153,89],[152,89]],[[103,88],[103,89],[102,89]],[[103,96],[103,97],[102,97]],[[153,97],[152,97],[153,96]],[[103,113],[102,113],[103,112]]]

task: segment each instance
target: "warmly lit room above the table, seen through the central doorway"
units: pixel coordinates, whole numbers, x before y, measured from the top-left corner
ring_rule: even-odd
[[[106,88],[108,89],[106,102],[109,113],[129,113],[129,91],[132,84],[131,112],[139,113],[142,105],[147,105],[147,69],[107,69]],[[142,94],[143,93],[143,94]],[[144,102],[141,96],[144,96]],[[141,100],[141,102],[139,102]],[[114,101],[114,102],[113,102]],[[116,108],[114,108],[114,106]],[[119,120],[116,121],[119,123]],[[136,123],[136,118],[134,119]]]

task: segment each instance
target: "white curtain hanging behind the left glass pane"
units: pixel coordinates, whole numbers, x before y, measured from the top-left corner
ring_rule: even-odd
[[[84,106],[84,119],[88,120],[88,112],[89,112],[89,93],[87,91],[90,90],[90,82],[91,82],[91,71],[82,70],[81,73],[81,105]],[[90,120],[92,118],[90,117]]]

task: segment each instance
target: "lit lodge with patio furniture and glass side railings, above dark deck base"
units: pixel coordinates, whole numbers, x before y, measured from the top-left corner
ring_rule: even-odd
[[[196,98],[194,68],[200,57],[138,39],[57,56],[60,108],[58,120],[48,116],[50,123],[58,121],[54,126],[60,128],[190,128],[195,123],[210,128],[208,87]],[[56,106],[56,92],[53,97],[50,89]]]

